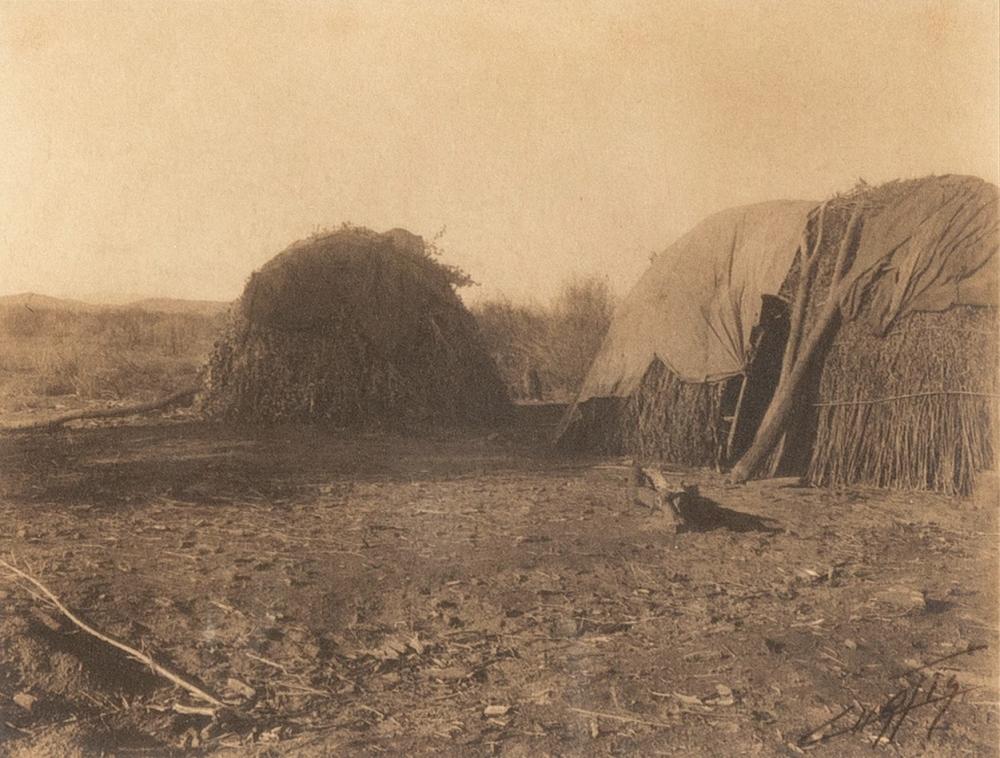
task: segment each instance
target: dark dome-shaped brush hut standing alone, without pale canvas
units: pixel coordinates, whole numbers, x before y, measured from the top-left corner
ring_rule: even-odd
[[[455,287],[402,229],[344,227],[254,273],[209,360],[205,409],[250,423],[491,422],[509,409]]]

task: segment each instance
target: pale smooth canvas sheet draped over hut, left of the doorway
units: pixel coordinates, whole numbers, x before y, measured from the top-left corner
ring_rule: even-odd
[[[656,357],[689,382],[741,373],[761,296],[777,294],[816,205],[722,211],[660,254],[615,313],[578,402],[631,394]]]

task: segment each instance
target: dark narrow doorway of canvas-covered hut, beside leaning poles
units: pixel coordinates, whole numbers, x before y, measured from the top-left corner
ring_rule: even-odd
[[[723,389],[722,420],[728,422],[728,434],[721,457],[726,465],[739,460],[750,447],[774,396],[781,376],[788,325],[788,303],[780,297],[764,295],[760,321],[750,333],[746,373],[729,379]]]

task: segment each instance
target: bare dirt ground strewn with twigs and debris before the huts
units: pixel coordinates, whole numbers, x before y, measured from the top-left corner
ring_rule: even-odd
[[[0,571],[0,753],[996,754],[992,478],[959,500],[668,471],[703,496],[673,534],[621,461],[548,451],[558,410],[3,437],[0,557],[235,708],[178,713]]]

